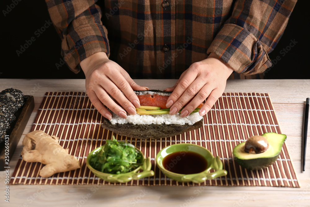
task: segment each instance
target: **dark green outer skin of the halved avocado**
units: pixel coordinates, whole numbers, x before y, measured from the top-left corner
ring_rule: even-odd
[[[235,161],[243,168],[248,170],[260,170],[264,168],[268,168],[275,161],[277,161],[280,153],[277,156],[270,158],[256,158],[251,160],[241,160],[235,157]]]

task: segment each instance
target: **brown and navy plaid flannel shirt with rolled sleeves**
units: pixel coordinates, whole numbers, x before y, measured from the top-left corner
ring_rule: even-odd
[[[175,79],[214,52],[234,69],[231,79],[244,79],[259,78],[272,65],[268,53],[281,38],[296,1],[46,3],[62,39],[61,54],[75,73],[86,57],[106,52],[131,78]]]

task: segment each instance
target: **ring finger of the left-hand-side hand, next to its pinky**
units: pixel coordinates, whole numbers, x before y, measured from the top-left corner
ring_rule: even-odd
[[[112,83],[112,82],[111,82]],[[115,86],[116,87],[116,86]],[[111,111],[113,111],[116,115],[126,119],[126,111],[122,109],[121,106],[117,105],[112,98],[108,95],[108,93],[101,87],[95,88],[95,94],[98,99],[107,106]],[[124,96],[124,95],[123,95]],[[115,97],[114,97],[115,98]],[[128,100],[127,100],[128,101]],[[129,102],[129,101],[128,101]]]

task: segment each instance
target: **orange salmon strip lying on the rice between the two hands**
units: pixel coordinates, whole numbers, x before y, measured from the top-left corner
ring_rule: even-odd
[[[157,107],[161,107],[162,109],[166,109],[167,108],[166,103],[167,103],[169,96],[162,96],[162,95],[155,93],[153,97],[151,94],[146,94],[146,95],[139,95],[138,98],[139,98],[141,106],[157,106]],[[200,109],[202,106],[203,106],[203,103],[201,103],[197,108]]]

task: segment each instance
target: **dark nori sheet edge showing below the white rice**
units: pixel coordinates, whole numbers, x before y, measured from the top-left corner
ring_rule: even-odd
[[[202,120],[197,121],[193,125],[179,124],[111,124],[104,118],[101,125],[103,128],[111,130],[118,135],[138,138],[138,139],[159,139],[164,137],[172,137],[191,130],[201,128]]]

